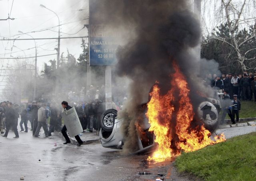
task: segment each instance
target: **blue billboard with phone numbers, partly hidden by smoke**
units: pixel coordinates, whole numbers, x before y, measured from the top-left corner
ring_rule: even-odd
[[[116,50],[120,45],[120,35],[107,22],[107,14],[102,4],[111,0],[89,1],[89,57],[90,66],[112,66],[116,64]]]

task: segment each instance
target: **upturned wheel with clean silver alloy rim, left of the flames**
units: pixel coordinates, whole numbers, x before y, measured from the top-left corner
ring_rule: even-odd
[[[108,109],[103,112],[100,118],[100,126],[106,132],[111,132],[113,130],[115,118],[117,116],[117,110]]]

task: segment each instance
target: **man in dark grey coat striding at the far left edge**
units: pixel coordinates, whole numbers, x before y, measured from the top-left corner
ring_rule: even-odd
[[[12,108],[12,102],[9,102],[8,108],[6,110],[6,132],[4,135],[2,135],[3,137],[8,136],[8,132],[10,130],[10,127],[12,126],[12,130],[14,131],[14,134],[15,134],[15,137],[13,137],[13,138],[19,138],[17,125],[15,122],[16,116],[17,116],[16,112],[15,112],[14,108]]]

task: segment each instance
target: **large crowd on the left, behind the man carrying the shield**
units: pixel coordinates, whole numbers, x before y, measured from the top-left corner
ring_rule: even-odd
[[[97,87],[98,88],[98,87]],[[103,95],[104,87],[102,89],[95,89],[93,85],[90,86],[90,90],[87,94],[84,94],[84,87],[82,87],[79,95],[76,92],[68,91],[67,101],[62,101],[64,104],[60,104],[60,101],[51,100],[48,102],[45,98],[41,98],[38,101],[28,102],[26,105],[12,104],[12,102],[4,101],[0,103],[0,132],[3,137],[8,136],[10,128],[15,133],[14,138],[19,138],[18,134],[18,118],[20,116],[20,130],[19,132],[28,132],[28,121],[30,122],[32,136],[38,137],[40,129],[44,129],[46,137],[52,136],[54,130],[61,131],[66,136],[66,129],[62,128],[62,116],[61,112],[68,108],[75,107],[80,120],[82,129],[84,131],[93,132],[96,130],[96,134],[100,131],[100,118],[105,111],[105,98]],[[117,100],[117,99],[116,99]],[[121,101],[118,101],[120,105]],[[119,106],[112,102],[112,108],[120,110]],[[66,136],[67,137],[67,136]],[[65,137],[65,138],[66,138]],[[79,136],[78,136],[79,137]],[[67,137],[68,138],[68,137]],[[80,138],[78,140],[78,146],[81,145]],[[66,139],[64,144],[69,143],[70,140]]]

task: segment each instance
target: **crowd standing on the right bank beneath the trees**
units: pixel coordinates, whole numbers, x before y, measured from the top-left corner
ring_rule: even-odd
[[[254,100],[256,102],[256,71],[254,74],[244,71],[242,74],[231,73],[222,76],[206,75],[204,83],[210,85],[218,92],[228,91],[230,98],[237,95],[239,100]],[[254,97],[254,99],[253,99]]]

